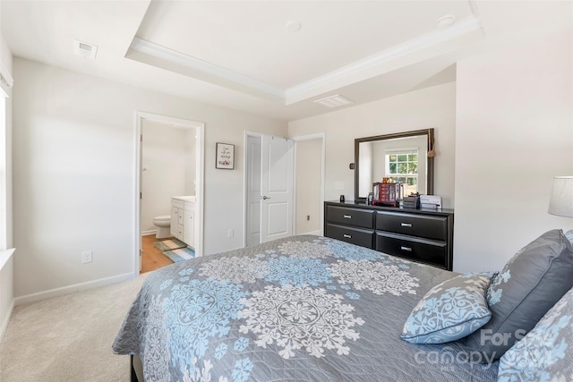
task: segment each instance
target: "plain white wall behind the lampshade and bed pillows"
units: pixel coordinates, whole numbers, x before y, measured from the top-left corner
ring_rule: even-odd
[[[458,63],[454,270],[498,270],[573,227],[547,214],[552,177],[573,175],[572,44],[569,30]]]

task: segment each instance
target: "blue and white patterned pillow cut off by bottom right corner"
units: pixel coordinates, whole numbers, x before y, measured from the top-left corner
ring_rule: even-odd
[[[573,380],[573,289],[500,359],[499,382]]]

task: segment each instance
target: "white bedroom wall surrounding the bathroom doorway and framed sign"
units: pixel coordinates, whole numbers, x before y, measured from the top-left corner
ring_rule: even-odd
[[[133,275],[136,110],[205,123],[205,254],[243,246],[244,132],[286,135],[286,123],[21,58],[13,65],[16,296]],[[215,169],[218,141],[235,144],[235,170]],[[81,264],[82,250],[93,250],[92,263]]]

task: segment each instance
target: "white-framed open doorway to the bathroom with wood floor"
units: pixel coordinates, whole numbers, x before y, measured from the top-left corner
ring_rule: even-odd
[[[195,256],[202,254],[204,124],[163,115],[136,115],[135,274],[173,264],[154,243],[169,234],[172,197],[193,196]],[[161,221],[167,220],[167,227]],[[162,227],[163,226],[163,227]],[[156,232],[159,238],[156,238]],[[166,236],[167,233],[167,236]]]

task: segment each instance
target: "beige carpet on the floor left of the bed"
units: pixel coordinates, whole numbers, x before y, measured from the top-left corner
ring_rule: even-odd
[[[129,356],[111,345],[147,275],[17,306],[0,344],[0,381],[129,381]]]

